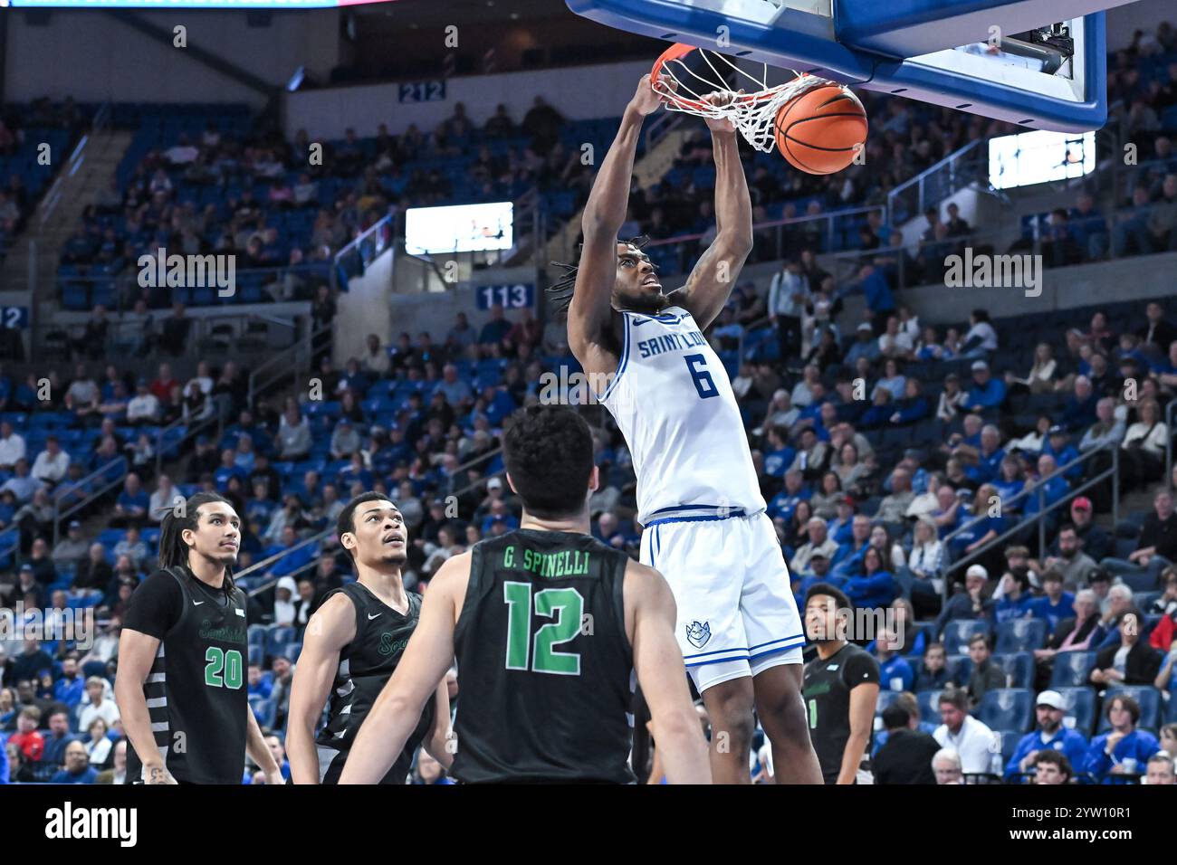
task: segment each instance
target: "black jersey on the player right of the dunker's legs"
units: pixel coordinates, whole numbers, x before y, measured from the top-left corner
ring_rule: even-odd
[[[810,739],[826,784],[837,781],[842,771],[842,756],[850,738],[851,690],[869,683],[877,685],[878,681],[878,661],[853,643],[847,643],[825,660],[814,658],[805,665],[802,696],[809,714]],[[870,740],[863,753],[870,756]]]

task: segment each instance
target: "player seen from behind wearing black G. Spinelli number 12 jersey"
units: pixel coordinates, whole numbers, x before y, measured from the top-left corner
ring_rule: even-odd
[[[661,575],[588,533],[592,433],[571,408],[517,413],[503,443],[520,527],[447,560],[368,712],[341,784],[387,770],[458,659],[453,776],[466,783],[627,783],[632,677],[672,784],[710,780]],[[445,687],[441,684],[441,687]]]

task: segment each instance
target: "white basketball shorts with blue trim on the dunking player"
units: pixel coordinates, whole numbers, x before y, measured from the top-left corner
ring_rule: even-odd
[[[653,514],[641,564],[674,593],[676,634],[701,694],[782,664],[800,664],[805,634],[772,520],[742,510],[681,506]]]

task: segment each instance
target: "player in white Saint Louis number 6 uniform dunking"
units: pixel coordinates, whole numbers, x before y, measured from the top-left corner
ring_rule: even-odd
[[[617,239],[643,118],[659,104],[644,76],[593,184],[568,345],[591,381],[609,382],[598,399],[632,452],[641,561],[665,573],[674,592],[676,633],[714,731],[716,783],[750,783],[754,706],[779,783],[820,784],[800,697],[805,637],[789,572],[731,382],[701,334],[752,248],[752,205],[731,121],[706,121],[717,233],[686,285],[664,294],[650,259]]]

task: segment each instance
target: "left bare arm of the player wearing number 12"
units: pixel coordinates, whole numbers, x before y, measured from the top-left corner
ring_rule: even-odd
[[[470,553],[448,559],[430,581],[417,630],[397,671],[355,737],[340,784],[378,784],[420,720],[425,701],[453,664],[454,611],[470,579]]]

